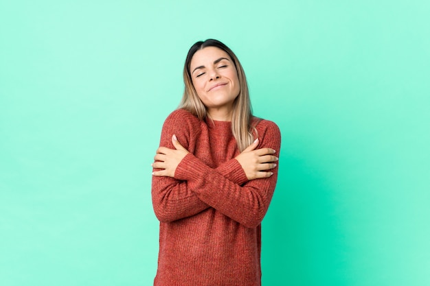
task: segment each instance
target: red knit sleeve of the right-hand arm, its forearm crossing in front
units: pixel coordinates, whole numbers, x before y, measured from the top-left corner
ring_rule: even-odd
[[[271,147],[279,156],[281,137],[278,126],[271,121],[260,124],[264,128],[258,130],[258,148]],[[232,169],[233,166],[231,163]],[[196,156],[188,154],[179,163],[175,178],[186,180],[188,188],[205,204],[248,228],[255,228],[262,222],[275,190],[278,166],[272,171],[273,175],[269,178],[250,180],[241,186],[211,169]]]

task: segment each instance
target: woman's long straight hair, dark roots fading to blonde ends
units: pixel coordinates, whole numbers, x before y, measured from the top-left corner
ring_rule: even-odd
[[[233,103],[231,132],[238,143],[240,152],[242,152],[251,145],[251,143],[253,143],[254,139],[252,131],[256,132],[256,129],[251,126],[252,107],[251,100],[249,99],[247,78],[245,77],[245,71],[243,71],[242,64],[240,64],[234,52],[219,40],[207,39],[205,41],[199,41],[192,45],[188,51],[188,55],[183,66],[183,82],[185,84],[185,90],[183,91],[183,97],[181,104],[179,104],[179,108],[188,110],[200,120],[208,117],[207,109],[203,102],[201,102],[201,99],[199,98],[199,95],[197,95],[194,85],[192,84],[190,73],[190,64],[194,53],[204,49],[205,47],[217,47],[218,49],[225,51],[230,56],[236,67],[236,71],[238,72],[240,91]]]

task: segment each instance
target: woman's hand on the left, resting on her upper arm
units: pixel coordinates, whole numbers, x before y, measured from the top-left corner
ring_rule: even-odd
[[[159,147],[157,149],[157,154],[154,157],[155,162],[152,163],[152,167],[162,170],[153,171],[152,175],[174,178],[174,171],[176,171],[179,163],[181,163],[183,157],[190,153],[179,143],[177,136],[174,134],[172,136],[172,143],[175,149],[169,149],[168,147]]]

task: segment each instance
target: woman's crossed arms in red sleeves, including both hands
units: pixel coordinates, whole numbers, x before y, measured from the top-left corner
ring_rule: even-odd
[[[213,207],[247,227],[258,226],[278,175],[275,150],[279,151],[280,134],[278,128],[269,133],[262,145],[273,143],[273,149],[257,149],[257,140],[216,169],[188,152],[176,136],[169,138],[171,143],[164,144],[169,147],[159,147],[152,164],[152,202],[158,219],[173,222]],[[271,137],[275,140],[268,140]]]

